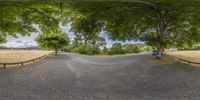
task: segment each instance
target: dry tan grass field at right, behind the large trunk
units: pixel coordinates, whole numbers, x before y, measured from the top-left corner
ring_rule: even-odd
[[[200,51],[173,51],[167,52],[168,55],[194,62],[200,62]]]

